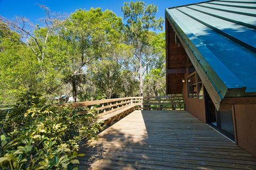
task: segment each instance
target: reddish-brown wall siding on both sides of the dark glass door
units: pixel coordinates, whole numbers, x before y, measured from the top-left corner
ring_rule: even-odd
[[[182,94],[186,111],[206,123],[204,99],[188,98],[187,83],[183,83]],[[256,104],[235,104],[232,111],[237,145],[256,157]]]

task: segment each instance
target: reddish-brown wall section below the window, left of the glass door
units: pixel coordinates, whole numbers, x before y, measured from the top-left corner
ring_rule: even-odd
[[[188,98],[187,83],[183,83],[182,94],[186,104],[186,111],[206,123],[204,99]]]

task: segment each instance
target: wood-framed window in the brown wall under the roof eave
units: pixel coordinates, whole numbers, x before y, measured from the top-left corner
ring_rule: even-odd
[[[203,99],[203,83],[196,72],[192,73],[187,77],[188,84],[188,97]]]

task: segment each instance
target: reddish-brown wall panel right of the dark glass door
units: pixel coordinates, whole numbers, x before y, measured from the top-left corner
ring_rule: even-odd
[[[256,156],[256,104],[234,105],[237,144]]]

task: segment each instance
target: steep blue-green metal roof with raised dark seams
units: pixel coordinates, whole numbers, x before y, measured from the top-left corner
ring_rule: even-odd
[[[166,9],[222,99],[227,89],[256,92],[256,0],[207,1]],[[194,49],[193,49],[194,48]]]

